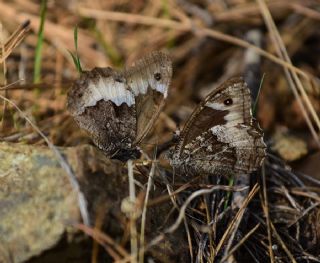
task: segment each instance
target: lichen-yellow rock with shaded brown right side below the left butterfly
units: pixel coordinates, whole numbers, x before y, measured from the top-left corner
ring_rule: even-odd
[[[129,244],[128,218],[121,211],[121,202],[127,198],[129,188],[125,163],[110,160],[89,145],[59,150],[77,177],[88,204],[91,222],[95,224],[96,220],[100,220],[102,231],[115,242],[119,242],[120,246]],[[149,170],[142,170],[144,172],[135,173],[135,179],[140,182],[139,185],[146,185]],[[55,259],[55,253],[42,253],[55,248],[66,234],[71,238],[63,243],[59,253],[67,251],[66,246],[74,246],[72,237],[81,234],[74,227],[75,223],[81,222],[77,194],[52,150],[44,146],[0,143],[0,183],[1,263],[25,262],[40,254],[36,262],[43,262],[41,257],[46,255]],[[150,199],[167,195],[161,180],[156,185],[152,187]],[[145,188],[137,187],[136,191],[138,197],[145,196]],[[171,213],[171,210],[169,199],[148,208],[146,242],[174,222],[176,214]],[[168,218],[169,214],[171,216]],[[136,224],[139,229],[140,218]],[[125,248],[130,251],[130,246]],[[90,253],[91,246],[88,251]],[[164,242],[150,248],[148,254],[155,259],[166,258],[167,261],[187,259],[188,243],[183,226]],[[83,258],[81,253],[78,256],[81,262],[90,260]]]

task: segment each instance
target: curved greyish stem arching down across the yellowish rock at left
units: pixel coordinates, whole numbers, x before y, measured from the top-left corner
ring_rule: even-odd
[[[64,169],[68,175],[69,182],[73,188],[74,191],[76,191],[78,196],[78,204],[79,204],[79,210],[82,217],[82,220],[85,225],[90,225],[90,219],[89,219],[89,213],[87,210],[87,201],[85,199],[84,194],[80,190],[80,185],[77,181],[76,176],[74,175],[70,165],[66,162],[66,160],[61,155],[60,151],[49,141],[49,139],[43,134],[43,132],[35,125],[33,122],[27,117],[27,115],[11,100],[3,97],[0,95],[0,98],[7,103],[9,103],[11,106],[13,106],[20,114],[20,116],[25,119],[31,127],[44,139],[44,141],[47,143],[48,147],[53,151],[55,154],[59,164],[61,165],[62,169]]]

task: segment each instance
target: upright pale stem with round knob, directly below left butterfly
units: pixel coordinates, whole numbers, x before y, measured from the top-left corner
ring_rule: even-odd
[[[133,176],[133,164],[132,160],[128,160],[128,181],[129,181],[129,200],[131,205],[136,205],[136,190],[134,185],[134,176]],[[131,255],[135,255],[131,258],[131,262],[137,262],[138,255],[138,236],[137,236],[137,227],[134,211],[130,215],[130,242],[131,242]]]

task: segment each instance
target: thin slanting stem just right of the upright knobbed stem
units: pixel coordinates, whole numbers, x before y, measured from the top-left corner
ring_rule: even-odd
[[[141,231],[140,231],[140,247],[139,247],[139,262],[144,262],[144,234],[145,234],[145,226],[146,226],[146,215],[147,215],[147,204],[149,200],[149,193],[153,182],[153,176],[155,172],[155,161],[152,162],[151,171],[149,173],[146,196],[143,203],[143,210],[141,216]]]

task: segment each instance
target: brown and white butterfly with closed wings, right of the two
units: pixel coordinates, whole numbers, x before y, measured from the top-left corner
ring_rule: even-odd
[[[169,159],[183,174],[231,175],[257,170],[266,155],[242,78],[214,89],[194,110]]]

